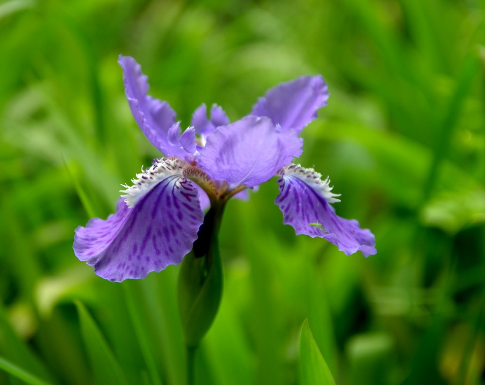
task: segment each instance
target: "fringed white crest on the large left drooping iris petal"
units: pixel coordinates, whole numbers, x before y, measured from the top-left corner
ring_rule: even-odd
[[[151,167],[146,170],[142,169],[136,178],[131,179],[133,186],[123,184],[126,190],[120,190],[121,195],[129,208],[133,208],[151,189],[153,189],[162,180],[170,176],[179,176],[182,178],[182,172],[187,163],[178,158],[160,158],[154,160]]]

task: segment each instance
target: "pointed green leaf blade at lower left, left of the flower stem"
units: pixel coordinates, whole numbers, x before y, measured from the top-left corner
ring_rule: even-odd
[[[97,384],[126,384],[126,376],[86,307],[76,301],[81,334]]]

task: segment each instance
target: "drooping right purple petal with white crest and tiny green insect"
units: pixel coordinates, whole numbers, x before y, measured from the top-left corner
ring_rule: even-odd
[[[329,180],[313,169],[291,164],[280,171],[279,195],[275,204],[283,212],[283,223],[291,225],[297,235],[320,237],[351,255],[361,251],[365,257],[376,254],[375,237],[361,229],[356,220],[340,218],[330,203],[338,202]]]

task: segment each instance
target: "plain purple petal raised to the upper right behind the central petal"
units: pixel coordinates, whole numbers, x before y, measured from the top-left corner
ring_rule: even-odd
[[[267,116],[274,125],[302,131],[327,104],[328,87],[321,75],[302,76],[271,88],[253,106],[253,115]]]

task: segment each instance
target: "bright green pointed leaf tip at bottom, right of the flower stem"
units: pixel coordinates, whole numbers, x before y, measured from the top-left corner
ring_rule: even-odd
[[[335,385],[330,369],[311,334],[308,320],[303,322],[300,337],[300,384]]]

